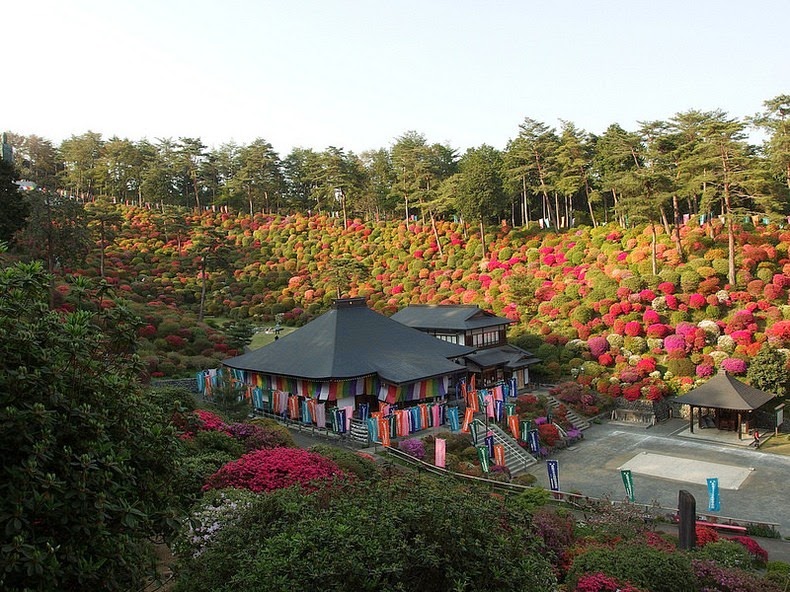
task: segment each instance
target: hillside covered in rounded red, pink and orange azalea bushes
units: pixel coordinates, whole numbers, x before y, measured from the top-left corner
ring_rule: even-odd
[[[448,221],[434,231],[419,221],[343,228],[324,216],[206,212],[174,221],[136,207],[122,214],[105,275],[143,307],[143,351],[170,350],[160,374],[227,355],[221,336],[189,319],[199,313],[202,266],[207,315],[259,324],[281,315],[299,325],[326,310],[338,287],[387,315],[413,303],[477,304],[514,320],[511,340],[544,360],[548,378],[573,371],[627,398],[682,392],[719,367],[743,375],[763,345],[783,349],[790,340],[790,232],[775,225],[736,228],[730,285],[718,219],[681,227],[682,256],[656,227],[653,274],[645,227],[557,233],[502,225],[489,229],[484,254],[478,235]],[[97,275],[97,259],[98,249],[71,271]],[[207,347],[192,347],[195,332]],[[185,361],[184,353],[203,359]]]

